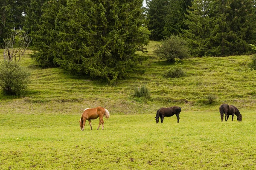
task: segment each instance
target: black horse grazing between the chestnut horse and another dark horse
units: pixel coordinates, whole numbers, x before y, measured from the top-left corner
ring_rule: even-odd
[[[160,108],[157,111],[157,116],[154,117],[154,118],[156,118],[156,122],[158,123],[159,122],[159,117],[160,117],[161,123],[163,123],[163,118],[164,117],[170,117],[170,116],[173,116],[173,115],[176,114],[177,120],[179,122],[179,120],[180,120],[180,116],[179,116],[180,112],[181,112],[181,108],[178,107],[178,106],[173,106],[171,108]]]

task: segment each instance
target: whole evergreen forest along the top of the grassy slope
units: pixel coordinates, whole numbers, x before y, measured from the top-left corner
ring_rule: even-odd
[[[24,31],[41,67],[114,82],[147,59],[137,51],[150,40],[178,36],[192,57],[252,54],[255,9],[252,0],[1,0],[0,48]]]

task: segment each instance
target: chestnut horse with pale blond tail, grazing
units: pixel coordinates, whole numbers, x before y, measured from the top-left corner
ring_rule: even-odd
[[[102,108],[102,107],[85,109],[84,113],[81,116],[81,119],[79,120],[81,130],[84,130],[84,125],[85,125],[86,120],[88,120],[91,130],[93,130],[90,120],[97,119],[98,117],[99,117],[99,126],[102,124],[102,130],[103,130],[104,129],[104,121],[103,121],[104,115],[107,119],[109,118],[108,110],[105,108]],[[97,128],[97,130],[99,130],[99,127]]]

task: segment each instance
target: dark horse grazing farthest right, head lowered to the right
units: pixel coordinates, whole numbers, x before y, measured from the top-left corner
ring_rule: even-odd
[[[225,121],[227,121],[230,115],[232,115],[232,121],[233,121],[234,115],[237,116],[237,121],[239,122],[242,121],[242,115],[240,114],[239,110],[233,105],[222,104],[220,106],[220,113],[221,113],[221,122],[223,122],[224,113],[225,113]]]

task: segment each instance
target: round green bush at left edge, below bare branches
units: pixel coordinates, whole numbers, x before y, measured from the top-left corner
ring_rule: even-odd
[[[15,62],[2,62],[0,64],[0,88],[4,94],[22,94],[27,88],[29,72]]]

